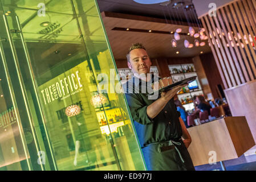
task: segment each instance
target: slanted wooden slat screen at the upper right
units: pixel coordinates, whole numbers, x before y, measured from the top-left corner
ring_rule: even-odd
[[[255,0],[239,0],[201,18],[225,89],[256,79],[255,11]]]

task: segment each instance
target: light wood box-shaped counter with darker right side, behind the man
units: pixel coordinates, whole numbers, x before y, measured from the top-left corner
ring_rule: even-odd
[[[245,117],[225,117],[188,128],[194,166],[235,159],[255,146]]]

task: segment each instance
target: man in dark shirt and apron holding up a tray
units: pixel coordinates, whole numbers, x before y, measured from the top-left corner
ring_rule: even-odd
[[[148,74],[152,63],[146,49],[140,43],[133,44],[127,60],[133,76],[123,88],[148,170],[194,170],[187,150],[192,139],[173,99],[185,85],[149,99],[148,93],[141,92],[141,85],[151,85],[158,77]],[[135,89],[139,92],[131,92]]]

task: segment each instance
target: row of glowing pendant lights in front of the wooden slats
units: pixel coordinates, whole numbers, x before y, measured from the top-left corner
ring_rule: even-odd
[[[218,36],[219,36],[220,38],[221,38],[221,36],[224,36],[224,35],[225,35],[223,31],[222,31],[222,35],[221,35],[221,32],[220,32],[220,30],[218,30],[218,28],[216,28],[216,31],[217,31],[217,34],[218,34]],[[241,34],[239,34],[239,32],[237,33],[237,35],[235,35],[233,31],[232,31],[231,33],[230,33],[230,32],[227,32],[227,38],[230,40],[231,47],[234,47],[235,45],[234,45],[234,42],[232,41],[231,35],[233,35],[233,38],[234,38],[234,40],[235,40],[236,42],[237,42],[238,39],[241,40],[241,39],[242,39],[242,36],[241,36]],[[213,35],[212,35],[211,33],[209,33],[209,36],[210,36],[210,38],[212,39],[213,45],[214,45],[214,40],[213,40],[213,39],[215,39],[215,42],[216,42],[218,48],[220,48],[220,43],[218,42],[218,39],[216,39],[216,33],[213,32]],[[213,38],[213,36],[214,36],[214,38]],[[249,40],[247,39],[246,35],[243,35],[243,39],[245,40],[245,43],[246,43],[246,44],[249,44],[249,43],[250,43],[251,46],[253,46],[253,48],[255,49],[254,43],[253,43],[253,39],[256,40],[256,37],[255,37],[254,35],[251,36],[250,34],[248,35],[248,37],[249,37]],[[210,46],[210,43],[209,43],[209,46]],[[239,46],[239,43],[237,43],[237,46]],[[227,47],[229,47],[229,44],[228,44],[228,43],[227,43]],[[241,47],[244,48],[245,45],[244,45],[243,43],[241,43]]]

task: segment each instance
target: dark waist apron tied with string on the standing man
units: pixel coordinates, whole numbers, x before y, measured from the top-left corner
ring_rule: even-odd
[[[189,152],[182,142],[159,142],[142,148],[149,171],[194,171]]]

